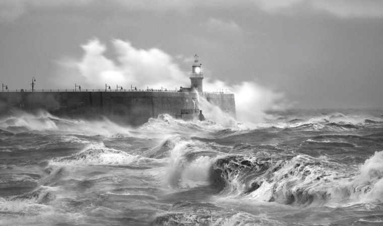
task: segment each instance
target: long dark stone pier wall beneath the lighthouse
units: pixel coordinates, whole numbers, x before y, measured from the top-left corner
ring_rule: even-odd
[[[235,116],[234,94],[201,95]],[[190,119],[191,114],[198,114],[194,112],[196,107],[198,108],[198,103],[194,92],[0,92],[2,114],[6,114],[12,108],[28,112],[43,109],[59,117],[107,117],[111,121],[134,126],[146,123],[149,118],[157,118],[159,114]]]

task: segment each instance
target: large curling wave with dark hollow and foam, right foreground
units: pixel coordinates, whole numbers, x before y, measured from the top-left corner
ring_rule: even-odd
[[[383,151],[355,169],[325,159],[298,155],[271,159],[226,156],[214,162],[212,182],[221,193],[298,205],[348,205],[383,201]]]

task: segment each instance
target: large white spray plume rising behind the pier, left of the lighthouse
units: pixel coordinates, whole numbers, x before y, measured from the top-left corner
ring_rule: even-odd
[[[187,84],[186,73],[165,52],[156,48],[136,49],[130,42],[118,39],[112,44],[117,62],[105,57],[106,46],[94,39],[81,46],[84,50],[82,59],[67,57],[58,61],[64,70],[58,74],[66,74],[68,79],[81,83],[83,89],[104,88],[104,84],[175,89],[175,85]]]

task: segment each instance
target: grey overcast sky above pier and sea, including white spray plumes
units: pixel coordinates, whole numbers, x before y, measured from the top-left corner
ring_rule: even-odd
[[[0,0],[10,89],[189,87],[195,54],[237,108],[383,107],[380,0]]]

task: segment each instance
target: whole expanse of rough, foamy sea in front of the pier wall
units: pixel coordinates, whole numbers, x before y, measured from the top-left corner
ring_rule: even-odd
[[[0,224],[383,224],[383,110],[0,119]]]

